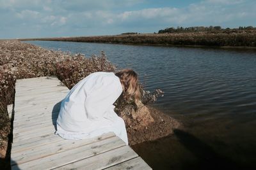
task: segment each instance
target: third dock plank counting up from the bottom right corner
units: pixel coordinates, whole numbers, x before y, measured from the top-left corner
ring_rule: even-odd
[[[12,169],[54,169],[78,160],[92,157],[93,155],[97,155],[99,153],[108,152],[109,150],[113,150],[121,146],[125,146],[125,143],[124,141],[120,140],[120,138],[108,138],[90,145],[80,146],[72,150],[31,160],[24,164],[17,164],[16,166],[12,166]]]

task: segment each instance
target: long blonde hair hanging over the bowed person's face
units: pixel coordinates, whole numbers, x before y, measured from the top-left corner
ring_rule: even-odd
[[[133,96],[135,104],[139,106],[141,104],[141,96],[138,75],[132,69],[122,69],[115,75],[120,79],[124,90],[124,96],[127,98]]]

